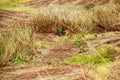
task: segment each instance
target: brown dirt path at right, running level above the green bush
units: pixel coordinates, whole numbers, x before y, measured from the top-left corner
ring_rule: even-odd
[[[93,47],[105,44],[118,49],[120,48],[120,32],[114,32],[114,34],[116,36],[88,39],[87,42],[92,44]]]

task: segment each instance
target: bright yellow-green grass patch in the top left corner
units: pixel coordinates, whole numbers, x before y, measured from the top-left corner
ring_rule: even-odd
[[[0,1],[0,9],[2,10],[12,10],[12,11],[27,11],[32,12],[35,11],[35,8],[29,6],[18,5],[18,3],[28,2],[30,0],[1,0]]]

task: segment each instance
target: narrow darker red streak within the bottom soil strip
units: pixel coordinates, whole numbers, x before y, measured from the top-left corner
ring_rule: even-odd
[[[76,66],[75,66],[76,67]],[[57,67],[57,68],[49,68],[49,69],[45,69],[45,70],[40,70],[37,72],[31,72],[31,73],[25,73],[25,74],[21,74],[12,78],[20,78],[20,79],[24,79],[24,78],[33,78],[33,76],[37,76],[37,75],[41,75],[41,76],[52,76],[52,75],[60,75],[60,74],[65,74],[65,73],[70,73],[72,71],[72,69],[75,67],[70,67],[70,66],[62,66],[62,67]],[[76,68],[80,68],[79,66],[77,66]],[[35,76],[35,77],[36,77]]]

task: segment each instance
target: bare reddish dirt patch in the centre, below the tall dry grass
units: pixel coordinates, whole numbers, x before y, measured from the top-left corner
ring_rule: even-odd
[[[64,36],[63,36],[64,38]],[[75,43],[59,42],[61,37],[52,33],[39,33],[36,39],[47,41],[46,48],[40,49],[40,55],[34,57],[40,65],[54,65],[59,61],[64,61],[70,57],[78,55],[79,48]],[[42,57],[41,57],[42,56]]]

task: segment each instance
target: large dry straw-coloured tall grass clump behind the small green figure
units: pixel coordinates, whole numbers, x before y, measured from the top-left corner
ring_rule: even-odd
[[[71,33],[90,32],[94,27],[92,13],[81,6],[61,5],[41,7],[34,19],[39,32],[59,32],[60,28]]]

